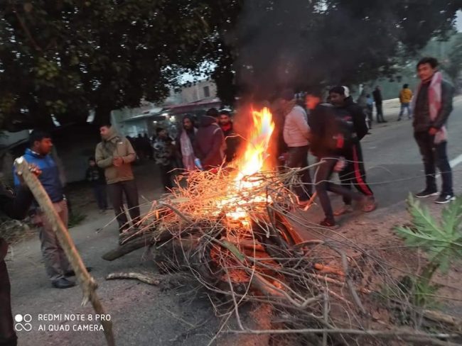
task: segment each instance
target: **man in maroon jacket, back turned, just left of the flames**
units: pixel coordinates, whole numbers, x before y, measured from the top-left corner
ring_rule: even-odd
[[[225,157],[225,136],[217,124],[217,114],[215,108],[210,108],[206,115],[200,118],[200,128],[195,136],[195,152],[206,170],[220,166]]]

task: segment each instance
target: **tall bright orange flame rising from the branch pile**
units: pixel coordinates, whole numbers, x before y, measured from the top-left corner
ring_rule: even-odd
[[[262,182],[252,179],[252,175],[269,168],[265,167],[265,160],[269,156],[267,150],[274,131],[272,118],[272,113],[267,107],[261,111],[252,111],[253,127],[250,130],[247,147],[244,154],[234,162],[237,169],[235,184],[229,187],[231,191],[228,191],[230,193],[227,199],[219,201],[220,207],[228,209],[227,217],[241,221],[242,225],[248,225],[245,205],[268,201],[266,194],[255,194],[254,188]]]

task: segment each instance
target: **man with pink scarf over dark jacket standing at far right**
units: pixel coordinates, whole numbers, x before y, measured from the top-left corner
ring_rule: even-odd
[[[424,161],[426,187],[416,197],[437,196],[436,169],[441,172],[443,186],[435,203],[448,203],[456,199],[452,187],[452,172],[446,146],[448,133],[446,121],[452,111],[453,87],[438,71],[438,60],[424,57],[417,63],[421,80],[414,97],[414,138]]]

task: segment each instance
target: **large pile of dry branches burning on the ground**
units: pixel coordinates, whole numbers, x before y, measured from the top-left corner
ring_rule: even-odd
[[[225,169],[179,177],[179,187],[154,201],[141,226],[104,258],[155,247],[163,272],[187,272],[208,290],[215,311],[226,317],[222,332],[259,335],[262,344],[460,341],[456,320],[441,326],[441,333],[422,331],[425,311],[409,303],[380,253],[334,237],[294,208],[291,186],[299,173],[262,172],[247,177],[246,189]],[[233,217],[236,212],[242,217]],[[294,227],[319,237],[303,241]],[[248,302],[264,306],[252,326],[242,317]]]

